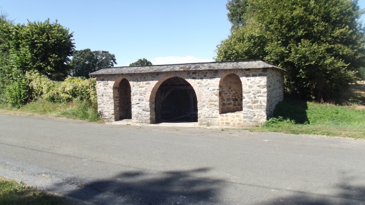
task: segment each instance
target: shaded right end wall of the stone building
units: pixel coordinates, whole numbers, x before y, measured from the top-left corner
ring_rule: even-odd
[[[284,99],[284,75],[282,71],[267,70],[267,107],[266,115],[271,117],[275,106]]]

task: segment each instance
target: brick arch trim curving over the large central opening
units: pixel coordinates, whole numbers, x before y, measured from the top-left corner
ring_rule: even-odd
[[[159,86],[163,83],[163,81],[165,81],[166,79],[168,79],[170,77],[180,77],[180,78],[186,80],[194,89],[197,101],[201,102],[201,95],[200,95],[200,91],[199,91],[197,84],[192,79],[188,78],[187,75],[182,74],[182,73],[175,73],[175,72],[165,72],[161,75],[158,75],[156,77],[157,80],[151,81],[151,84],[149,85],[149,87],[147,89],[147,93],[146,93],[146,97],[145,97],[146,102],[154,102],[154,98],[156,96],[156,92],[157,92]]]

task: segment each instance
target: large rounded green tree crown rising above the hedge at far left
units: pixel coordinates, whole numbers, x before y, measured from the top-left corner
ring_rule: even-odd
[[[73,34],[57,20],[1,24],[0,52],[14,56],[23,71],[37,70],[50,77],[66,75],[74,51]]]

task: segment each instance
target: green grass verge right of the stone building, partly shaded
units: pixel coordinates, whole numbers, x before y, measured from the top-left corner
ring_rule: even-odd
[[[247,130],[365,139],[365,109],[286,99],[276,105],[273,118]]]

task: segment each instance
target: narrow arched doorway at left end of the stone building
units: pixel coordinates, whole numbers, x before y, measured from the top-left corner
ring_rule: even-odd
[[[113,92],[115,121],[132,119],[131,89],[129,81],[125,78],[115,81]]]

